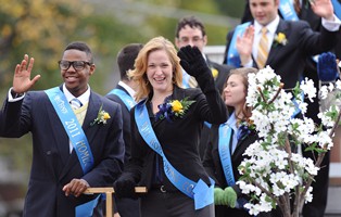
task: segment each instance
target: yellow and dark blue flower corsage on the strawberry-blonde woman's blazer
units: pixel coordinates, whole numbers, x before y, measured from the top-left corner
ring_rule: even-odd
[[[185,98],[182,100],[173,100],[173,101],[167,101],[163,104],[160,104],[159,112],[156,113],[155,119],[166,118],[169,123],[172,123],[174,117],[182,118],[186,111],[194,102],[193,100],[187,100],[187,99],[188,98]]]

